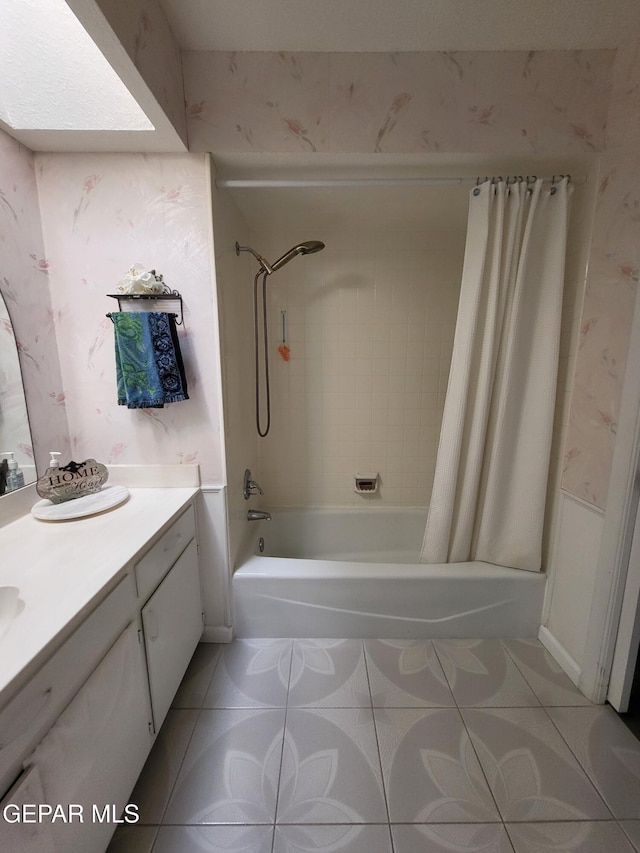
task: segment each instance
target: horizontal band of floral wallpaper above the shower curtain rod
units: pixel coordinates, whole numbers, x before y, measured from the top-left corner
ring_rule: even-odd
[[[614,54],[183,54],[195,151],[592,152]]]

